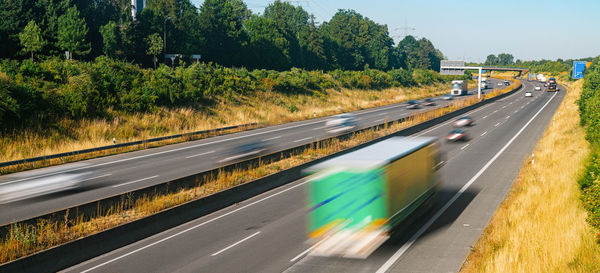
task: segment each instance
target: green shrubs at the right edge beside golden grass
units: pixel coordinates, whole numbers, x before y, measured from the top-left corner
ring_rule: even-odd
[[[588,222],[600,230],[600,65],[597,64],[598,59],[586,71],[578,101],[581,123],[592,146],[592,156],[579,185]]]

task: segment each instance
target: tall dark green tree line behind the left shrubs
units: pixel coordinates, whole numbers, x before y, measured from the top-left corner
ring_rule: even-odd
[[[164,53],[200,54],[203,62],[279,71],[439,70],[443,58],[425,38],[394,45],[386,25],[353,10],[317,24],[280,0],[262,14],[241,0],[206,0],[199,8],[190,0],[146,3],[134,19],[130,0],[0,1],[0,58],[47,59],[68,50],[76,59],[106,55],[150,67]]]

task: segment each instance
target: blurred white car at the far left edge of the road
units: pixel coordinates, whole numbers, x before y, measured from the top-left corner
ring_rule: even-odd
[[[0,204],[84,187],[91,172],[64,173],[0,185]]]

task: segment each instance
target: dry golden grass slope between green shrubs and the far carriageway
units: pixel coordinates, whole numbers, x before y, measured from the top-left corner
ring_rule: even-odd
[[[445,85],[386,90],[327,90],[326,96],[285,95],[256,92],[240,96],[237,104],[220,103],[206,109],[166,109],[153,113],[123,115],[109,110],[107,119],[62,120],[52,129],[26,130],[0,135],[0,162],[69,152],[153,137],[257,122],[280,124],[437,96]]]

